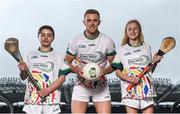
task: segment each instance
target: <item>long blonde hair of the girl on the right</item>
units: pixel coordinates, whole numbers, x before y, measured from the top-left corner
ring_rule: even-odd
[[[124,37],[123,37],[123,39],[122,39],[121,46],[123,46],[123,45],[125,45],[125,44],[127,44],[127,43],[129,42],[129,37],[127,36],[127,26],[128,26],[130,23],[136,23],[136,24],[139,26],[140,34],[139,34],[138,39],[139,39],[139,41],[140,41],[141,43],[144,43],[144,36],[143,36],[143,33],[142,33],[141,24],[139,23],[138,20],[133,19],[133,20],[128,21],[127,24],[126,24],[125,31],[124,31]]]

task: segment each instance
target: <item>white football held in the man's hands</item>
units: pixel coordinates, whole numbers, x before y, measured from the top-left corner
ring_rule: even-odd
[[[83,76],[86,80],[97,80],[100,77],[100,67],[97,63],[88,63],[83,67]]]

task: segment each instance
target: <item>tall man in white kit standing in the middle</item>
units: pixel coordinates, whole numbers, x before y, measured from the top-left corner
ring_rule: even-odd
[[[98,30],[100,14],[97,10],[88,9],[84,14],[83,23],[86,27],[83,34],[78,35],[68,45],[65,60],[77,79],[72,94],[72,113],[85,113],[90,97],[92,97],[98,113],[111,113],[111,97],[105,74],[113,69],[108,67],[116,54],[111,38]],[[78,60],[79,65],[72,61]],[[85,63],[95,62],[102,68],[102,76],[96,81],[83,78],[82,67]]]

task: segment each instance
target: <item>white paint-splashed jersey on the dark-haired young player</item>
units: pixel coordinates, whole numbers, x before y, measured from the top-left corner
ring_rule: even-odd
[[[32,51],[27,57],[28,67],[34,79],[41,88],[49,87],[58,78],[60,66],[63,63],[62,56],[55,52]],[[28,81],[26,84],[25,104],[41,104],[37,89]],[[60,103],[60,91],[55,90],[46,97],[43,104]]]

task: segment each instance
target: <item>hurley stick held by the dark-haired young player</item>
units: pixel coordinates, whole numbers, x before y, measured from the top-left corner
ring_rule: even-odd
[[[11,54],[14,57],[14,59],[17,62],[20,62],[20,61],[23,60],[23,58],[22,58],[22,56],[20,54],[20,51],[19,51],[18,39],[16,39],[16,38],[8,38],[5,41],[4,48],[9,54]],[[41,90],[42,88],[38,85],[38,81],[33,78],[32,74],[31,74],[31,72],[29,71],[28,68],[26,69],[25,72],[26,72],[26,74],[28,76],[28,79],[34,85],[34,87],[36,87],[36,89],[38,91]],[[45,97],[41,97],[41,102],[44,102],[45,100],[46,100]]]

